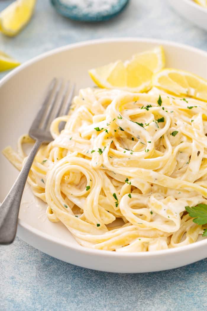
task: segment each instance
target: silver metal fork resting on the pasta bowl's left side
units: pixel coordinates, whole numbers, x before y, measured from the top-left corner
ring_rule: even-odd
[[[36,142],[16,182],[0,206],[0,244],[10,244],[15,239],[21,198],[29,170],[39,147],[43,143],[53,140],[48,130],[52,116],[56,118],[65,115],[70,109],[75,85],[72,85],[71,91],[69,92],[69,82],[66,83],[63,91],[62,84],[62,80],[58,81],[56,78],[51,81],[46,98],[29,129],[29,136]],[[59,102],[58,105],[56,104],[57,102]],[[57,108],[56,111],[54,109],[55,107]],[[62,122],[60,123],[59,129],[62,130],[63,128],[64,123]]]

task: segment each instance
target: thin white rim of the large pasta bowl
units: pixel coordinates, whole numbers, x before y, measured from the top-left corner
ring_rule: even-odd
[[[186,0],[184,0],[186,1]],[[188,1],[188,0],[187,0]],[[140,42],[140,43],[152,43],[152,44],[159,44],[159,45],[168,45],[171,47],[178,47],[181,49],[186,49],[194,53],[198,53],[207,59],[207,52],[197,49],[195,47],[176,43],[169,40],[162,40],[162,39],[151,39],[151,38],[142,38],[142,37],[115,37],[115,38],[104,38],[104,39],[93,39],[93,40],[86,40],[81,41],[77,43],[67,44],[61,47],[58,47],[56,49],[49,50],[47,52],[41,53],[40,55],[24,62],[20,66],[13,69],[11,72],[7,73],[1,80],[0,80],[0,88],[7,82],[9,79],[13,76],[15,76],[18,72],[21,70],[29,67],[30,65],[38,62],[39,60],[42,60],[44,58],[47,58],[48,56],[52,56],[54,54],[64,52],[66,50],[84,47],[87,45],[93,45],[93,44],[108,44],[108,43],[114,43],[114,42]],[[80,253],[84,254],[91,254],[98,257],[116,257],[116,258],[145,258],[145,257],[160,257],[165,255],[170,255],[174,253],[185,253],[187,251],[190,251],[192,249],[196,250],[200,247],[206,247],[207,246],[207,239],[203,239],[201,241],[197,241],[192,244],[176,247],[176,248],[169,248],[164,250],[158,250],[158,251],[151,251],[151,252],[129,252],[129,253],[119,253],[119,252],[111,252],[107,250],[101,250],[101,249],[94,249],[94,248],[86,248],[79,244],[73,244],[72,242],[66,242],[60,238],[51,237],[49,234],[42,232],[41,230],[38,230],[31,225],[28,225],[25,221],[19,219],[18,221],[18,227],[20,227],[23,230],[27,230],[30,233],[34,234],[35,237],[44,239],[50,243],[58,244],[60,246],[63,246],[68,249],[73,249],[74,251],[78,251]]]

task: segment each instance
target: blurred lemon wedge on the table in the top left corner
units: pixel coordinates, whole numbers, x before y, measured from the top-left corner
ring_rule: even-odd
[[[16,0],[0,13],[0,30],[4,35],[16,35],[30,20],[36,0]]]

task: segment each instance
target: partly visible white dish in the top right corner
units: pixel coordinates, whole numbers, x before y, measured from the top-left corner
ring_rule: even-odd
[[[183,17],[207,30],[207,8],[193,0],[168,0],[170,5]]]

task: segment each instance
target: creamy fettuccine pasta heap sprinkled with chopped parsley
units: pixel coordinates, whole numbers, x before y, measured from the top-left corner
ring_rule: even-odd
[[[119,252],[187,245],[202,234],[186,206],[207,203],[207,104],[117,90],[80,90],[70,114],[51,124],[29,173],[47,217],[79,244]],[[59,132],[59,123],[65,129]],[[3,152],[17,169],[26,155]]]

